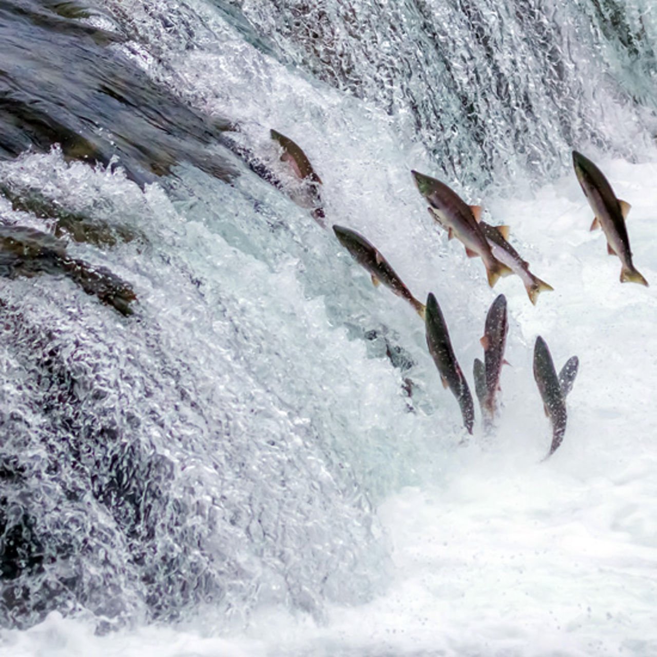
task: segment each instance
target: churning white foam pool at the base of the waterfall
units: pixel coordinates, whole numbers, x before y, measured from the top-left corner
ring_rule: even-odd
[[[517,278],[495,290],[509,301],[512,367],[503,373],[503,415],[491,438],[475,436],[445,452],[443,442],[462,437],[450,428],[459,411],[438,375],[427,377],[431,394],[445,401],[432,417],[442,435],[435,443],[442,465],[433,482],[378,504],[394,563],[382,595],[361,606],[333,604],[319,623],[278,606],[261,610],[237,634],[226,633],[211,609],[184,628],[139,627],[104,637],[93,635],[91,622],[55,612],[28,631],[3,631],[3,654],[655,654],[657,164],[604,158],[599,164],[618,196],[633,205],[635,264],[653,286],[618,282],[620,263],[606,255],[599,232],[589,233],[591,212],[574,175],[528,200],[487,199],[493,218],[512,226],[518,250],[555,292],[532,307]],[[425,229],[428,246],[434,237],[430,225]],[[398,248],[403,252],[403,244]],[[490,298],[480,262],[466,260],[458,244],[444,250],[453,279],[468,273],[460,290],[468,286]],[[367,284],[364,273],[353,275]],[[448,321],[457,307],[469,318],[460,325],[466,334],[453,339],[471,380],[468,364],[478,355],[485,308],[477,300],[464,304],[453,286],[434,289]],[[414,321],[401,300],[387,290],[377,294],[390,313]],[[550,430],[532,378],[537,334],[557,367],[573,354],[581,363],[568,398],[566,438],[543,463]],[[350,394],[345,386],[345,399]],[[392,440],[394,422],[392,413],[380,420]]]

